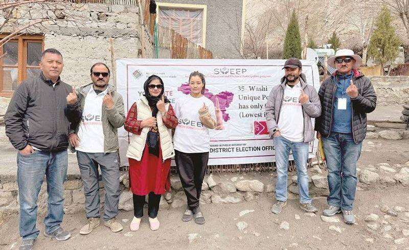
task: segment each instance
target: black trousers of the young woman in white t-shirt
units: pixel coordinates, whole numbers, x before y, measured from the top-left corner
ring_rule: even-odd
[[[188,207],[193,211],[199,207],[201,185],[205,178],[209,161],[209,152],[183,153],[175,150],[175,162],[179,177],[188,198]]]

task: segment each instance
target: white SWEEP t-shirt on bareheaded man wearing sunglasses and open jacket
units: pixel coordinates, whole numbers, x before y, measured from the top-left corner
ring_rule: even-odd
[[[78,130],[80,138],[77,151],[86,153],[104,153],[104,132],[102,129],[102,101],[107,93],[105,89],[97,95],[94,88],[90,88],[86,97],[82,119]]]

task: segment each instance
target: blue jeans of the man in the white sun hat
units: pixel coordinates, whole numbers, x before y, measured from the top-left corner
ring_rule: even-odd
[[[352,134],[331,132],[323,137],[327,159],[329,196],[328,205],[342,210],[352,210],[356,191],[356,162],[362,142],[356,144]]]

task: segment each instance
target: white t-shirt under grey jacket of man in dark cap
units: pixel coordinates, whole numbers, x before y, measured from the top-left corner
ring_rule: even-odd
[[[298,98],[301,95],[301,84],[294,87],[285,85],[284,97],[280,109],[278,129],[281,136],[292,142],[304,141],[304,116]]]

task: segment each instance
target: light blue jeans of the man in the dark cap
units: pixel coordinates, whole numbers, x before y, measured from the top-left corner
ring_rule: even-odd
[[[288,157],[290,155],[291,149],[294,161],[296,162],[300,203],[311,203],[312,200],[308,193],[308,142],[292,142],[282,136],[278,136],[274,137],[274,148],[276,151],[277,164],[277,201],[287,201]]]

